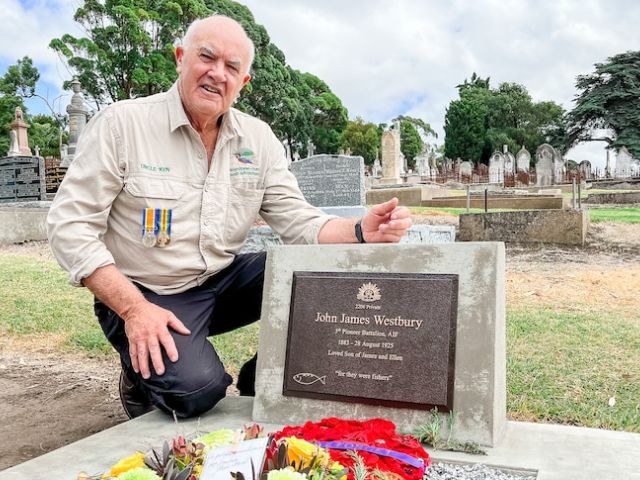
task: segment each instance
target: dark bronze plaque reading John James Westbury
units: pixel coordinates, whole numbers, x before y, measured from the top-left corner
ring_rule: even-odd
[[[458,276],[294,272],[283,395],[453,408]]]

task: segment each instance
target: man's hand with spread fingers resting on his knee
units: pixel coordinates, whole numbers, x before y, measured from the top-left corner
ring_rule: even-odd
[[[155,372],[158,375],[164,374],[162,348],[167,352],[169,360],[178,360],[178,349],[169,328],[182,335],[191,333],[169,310],[146,300],[138,302],[124,313],[123,319],[124,330],[129,339],[131,365],[145,379],[151,376],[149,357]]]

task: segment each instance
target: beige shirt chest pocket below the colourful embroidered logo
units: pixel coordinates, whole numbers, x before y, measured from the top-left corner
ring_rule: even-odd
[[[253,226],[262,206],[264,189],[231,187],[224,226],[227,249],[239,250]]]

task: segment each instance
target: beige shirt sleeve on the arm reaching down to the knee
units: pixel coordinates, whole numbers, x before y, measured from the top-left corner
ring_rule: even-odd
[[[102,236],[113,200],[123,188],[123,148],[109,109],[98,113],[82,132],[49,210],[49,245],[72,285],[81,286],[96,269],[115,263]]]

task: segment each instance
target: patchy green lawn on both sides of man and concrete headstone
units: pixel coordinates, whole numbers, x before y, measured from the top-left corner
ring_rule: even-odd
[[[0,298],[0,335],[56,334],[66,338],[65,349],[115,355],[93,315],[91,294],[69,286],[53,261],[0,255]],[[237,372],[257,350],[258,325],[212,341]],[[507,345],[511,418],[640,431],[638,317],[513,308]]]

